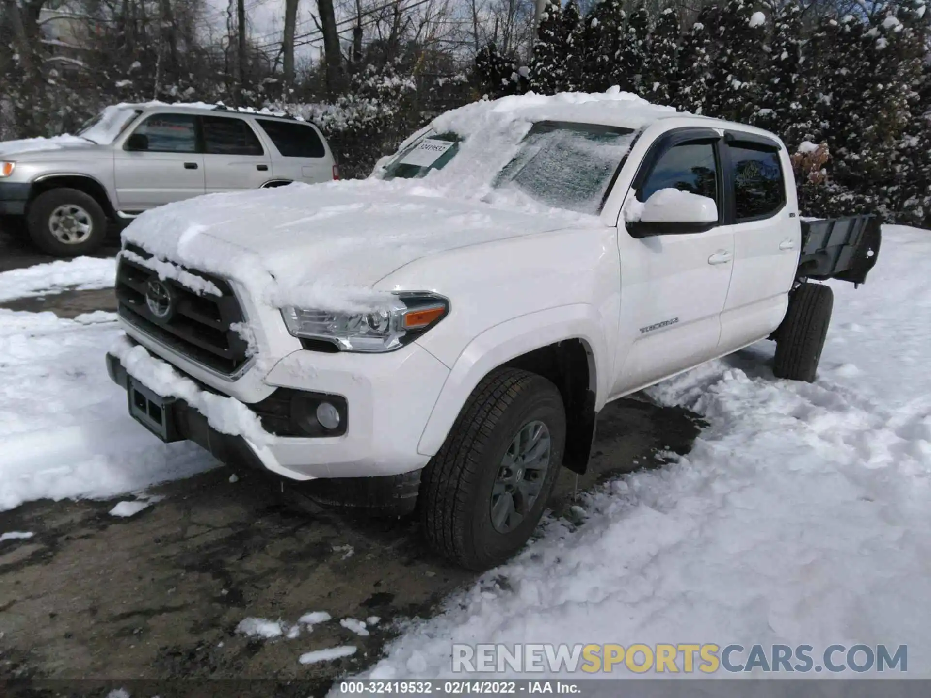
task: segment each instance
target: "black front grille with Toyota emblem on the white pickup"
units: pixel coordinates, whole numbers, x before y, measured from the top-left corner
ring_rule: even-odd
[[[153,257],[135,245],[128,245],[126,249],[144,260]],[[175,279],[161,279],[171,290],[174,308],[168,319],[159,319],[145,300],[149,281],[158,278],[158,275],[142,264],[120,256],[116,268],[119,315],[133,327],[179,354],[209,369],[226,375],[233,374],[249,360],[248,343],[232,329],[236,323],[243,321],[242,308],[236,301],[233,289],[216,276],[190,269],[184,271],[209,281],[222,295],[198,293]]]

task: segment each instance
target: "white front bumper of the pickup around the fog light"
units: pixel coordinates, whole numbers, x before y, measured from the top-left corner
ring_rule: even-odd
[[[175,367],[171,369],[189,378]],[[107,355],[107,370],[115,383],[127,389],[130,372],[119,357]],[[344,435],[310,438],[267,434],[258,444],[244,436],[219,432],[207,415],[183,400],[173,403],[171,428],[223,463],[245,461],[291,479],[399,475],[423,468],[429,460],[417,452],[417,445],[448,374],[449,369],[438,359],[416,345],[377,356],[302,350],[281,359],[264,382],[272,387],[343,396],[348,406]],[[138,376],[133,380],[145,384]],[[196,383],[205,387],[203,382]],[[146,387],[152,390],[155,386]],[[213,388],[206,392],[225,396]]]

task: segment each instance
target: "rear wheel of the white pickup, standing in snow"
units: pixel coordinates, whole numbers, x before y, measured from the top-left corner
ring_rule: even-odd
[[[804,283],[792,291],[789,310],[776,330],[776,378],[814,383],[833,307],[828,286]]]

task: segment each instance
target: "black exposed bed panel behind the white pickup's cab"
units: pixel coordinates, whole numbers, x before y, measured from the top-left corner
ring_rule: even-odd
[[[799,278],[866,281],[879,257],[880,221],[875,216],[849,216],[802,221]]]

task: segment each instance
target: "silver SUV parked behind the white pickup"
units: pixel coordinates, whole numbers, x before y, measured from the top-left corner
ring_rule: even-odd
[[[0,142],[0,215],[34,243],[74,257],[108,221],[216,192],[338,178],[317,127],[281,114],[210,105],[119,104],[77,136]]]

